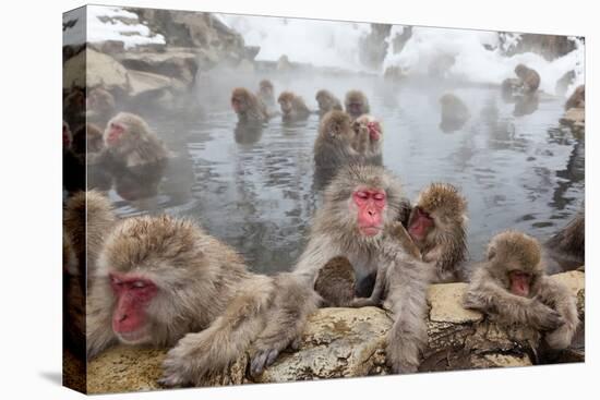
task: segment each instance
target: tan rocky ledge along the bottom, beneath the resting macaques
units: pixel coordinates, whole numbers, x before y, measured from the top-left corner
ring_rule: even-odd
[[[554,276],[577,295],[579,317],[585,322],[585,274]],[[533,348],[538,332],[506,330],[482,314],[463,308],[466,283],[434,284],[430,288],[429,343],[421,372],[524,366],[584,361],[583,325],[572,348],[550,357]],[[241,356],[227,373],[207,385],[281,383],[292,380],[386,375],[385,337],[391,314],[376,307],[322,308],[303,332],[298,351],[284,352],[261,376],[248,373],[249,355]],[[154,390],[161,374],[165,349],[116,347],[88,364],[89,393]]]

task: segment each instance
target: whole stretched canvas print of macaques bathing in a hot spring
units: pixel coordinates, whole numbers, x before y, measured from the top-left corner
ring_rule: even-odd
[[[65,386],[584,362],[584,37],[116,5],[62,32]]]

